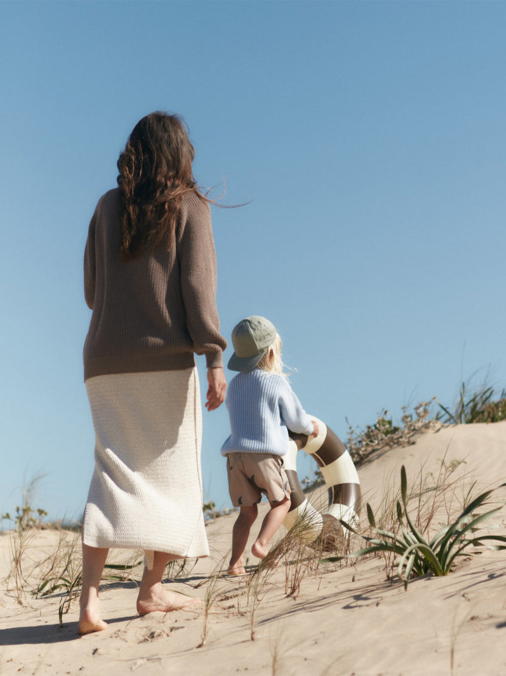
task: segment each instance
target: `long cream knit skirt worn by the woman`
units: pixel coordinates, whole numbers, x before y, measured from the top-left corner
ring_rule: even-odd
[[[200,466],[197,368],[86,381],[95,471],[84,511],[91,547],[208,556]]]

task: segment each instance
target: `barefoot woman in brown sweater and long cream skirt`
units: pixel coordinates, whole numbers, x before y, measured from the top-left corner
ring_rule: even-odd
[[[209,554],[194,353],[205,354],[211,411],[225,397],[226,341],[209,201],[197,189],[193,157],[178,116],[143,118],[118,160],[118,188],[99,199],[89,227],[84,380],[96,447],[79,633],[107,627],[98,588],[110,547],[145,550],[140,614],[192,603],[162,588],[163,572],[176,558]]]

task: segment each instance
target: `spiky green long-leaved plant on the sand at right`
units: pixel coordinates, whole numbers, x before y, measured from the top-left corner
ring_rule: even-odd
[[[502,483],[497,488],[505,485],[506,483]],[[349,524],[343,522],[345,527],[357,535],[361,535],[368,542],[367,547],[359,549],[349,554],[349,556],[363,556],[374,552],[391,552],[394,556],[400,556],[397,574],[404,582],[405,589],[407,589],[410,577],[448,575],[455,559],[458,556],[463,556],[464,550],[468,547],[486,546],[495,550],[506,549],[506,545],[504,544],[491,544],[492,542],[505,543],[506,537],[503,535],[478,535],[476,537],[473,535],[478,524],[490,518],[492,514],[495,514],[502,508],[501,505],[484,514],[474,514],[476,509],[486,504],[490,494],[495,490],[497,489],[490,489],[481,493],[465,507],[453,523],[440,529],[430,540],[425,539],[415,527],[407,511],[407,480],[405,466],[403,465],[401,468],[402,506],[399,500],[397,501],[397,519],[399,521],[400,532],[390,533],[389,531],[378,529],[374,513],[368,503],[368,521],[371,527],[376,529],[378,537],[361,535],[357,531],[354,531]],[[402,537],[400,533],[402,533]],[[335,557],[328,560],[334,559]]]

